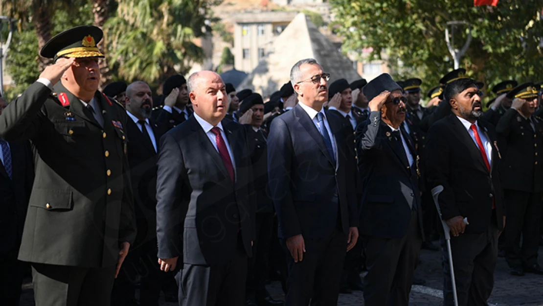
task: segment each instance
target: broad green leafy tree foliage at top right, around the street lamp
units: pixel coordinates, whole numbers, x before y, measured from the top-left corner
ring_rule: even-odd
[[[445,42],[446,23],[471,23],[472,42],[460,63],[478,80],[494,85],[513,78],[543,79],[543,0],[500,0],[497,7],[474,7],[473,0],[331,0],[344,38],[344,51],[387,54],[401,62],[397,78],[420,77],[425,89],[438,84],[453,61]],[[455,33],[465,41],[466,32]]]

